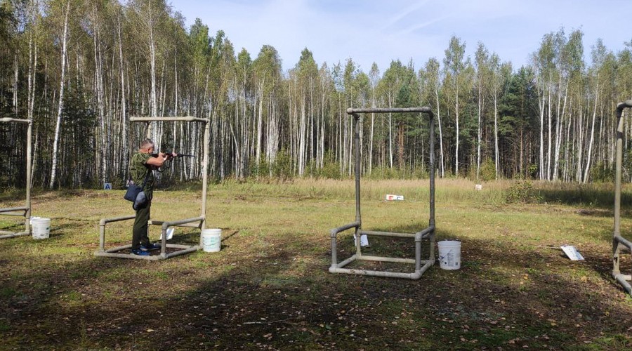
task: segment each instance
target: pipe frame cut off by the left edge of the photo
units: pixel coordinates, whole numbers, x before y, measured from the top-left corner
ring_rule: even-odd
[[[18,123],[27,124],[27,169],[26,169],[26,199],[25,204],[22,207],[0,208],[0,215],[2,216],[23,216],[24,227],[22,232],[8,232],[6,230],[0,230],[0,239],[8,239],[13,237],[23,237],[31,234],[31,150],[32,150],[32,138],[33,138],[33,121],[30,119],[18,119],[18,118],[0,118],[0,122],[6,123]],[[17,213],[15,211],[23,211],[23,213]]]

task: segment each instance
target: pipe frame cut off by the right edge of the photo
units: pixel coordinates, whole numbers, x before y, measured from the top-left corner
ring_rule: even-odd
[[[614,168],[614,231],[612,233],[612,277],[624,287],[629,295],[632,295],[631,274],[621,274],[621,253],[627,248],[632,251],[632,242],[621,237],[621,169],[623,160],[623,135],[624,119],[623,111],[632,108],[632,100],[620,102],[617,105],[617,141],[615,143],[615,168]]]

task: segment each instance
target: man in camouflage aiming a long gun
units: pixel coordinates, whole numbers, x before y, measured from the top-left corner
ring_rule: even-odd
[[[150,256],[148,251],[160,249],[159,245],[152,244],[147,237],[150,208],[154,195],[153,170],[161,167],[165,161],[174,156],[174,154],[164,154],[163,152],[157,154],[157,157],[153,157],[152,154],[154,154],[154,142],[151,139],[145,139],[140,143],[140,149],[133,154],[129,162],[130,178],[134,184],[142,185],[147,177],[144,190],[147,206],[141,206],[142,208],[136,210],[136,219],[132,230],[131,253],[139,256]]]

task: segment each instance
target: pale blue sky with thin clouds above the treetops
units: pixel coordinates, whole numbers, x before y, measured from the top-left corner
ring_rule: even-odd
[[[168,0],[169,1],[169,0]],[[481,41],[490,53],[529,62],[541,38],[560,27],[584,32],[584,59],[598,38],[611,51],[632,41],[632,0],[172,0],[189,27],[195,18],[211,36],[222,29],[254,60],[263,45],[274,46],[283,69],[296,65],[303,48],[322,65],[348,58],[369,72],[376,62],[384,72],[391,60],[416,69],[428,58],[444,57],[455,35],[473,57]]]

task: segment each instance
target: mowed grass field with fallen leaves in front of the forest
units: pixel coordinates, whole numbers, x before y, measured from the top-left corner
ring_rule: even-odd
[[[632,299],[610,275],[612,185],[534,183],[538,203],[506,204],[513,184],[437,180],[437,239],[462,241],[462,268],[437,263],[418,281],[327,272],[329,229],[355,220],[351,180],[209,185],[207,226],[222,228],[222,250],[158,262],[93,256],[100,218],[133,214],[121,190],[36,192],[33,216],[52,218],[51,238],[0,240],[0,348],[632,347]],[[199,216],[199,188],[156,192],[152,218]],[[21,206],[20,196],[2,194],[0,207]],[[626,189],[621,226],[632,237],[629,199]],[[367,230],[423,229],[428,180],[362,181],[362,220]],[[1,230],[19,225],[0,216]],[[352,234],[339,235],[339,259],[354,250]],[[173,242],[198,239],[178,228]],[[107,226],[107,246],[130,240],[131,221]],[[563,244],[586,260],[570,261]],[[412,246],[371,239],[368,251],[410,256]]]

